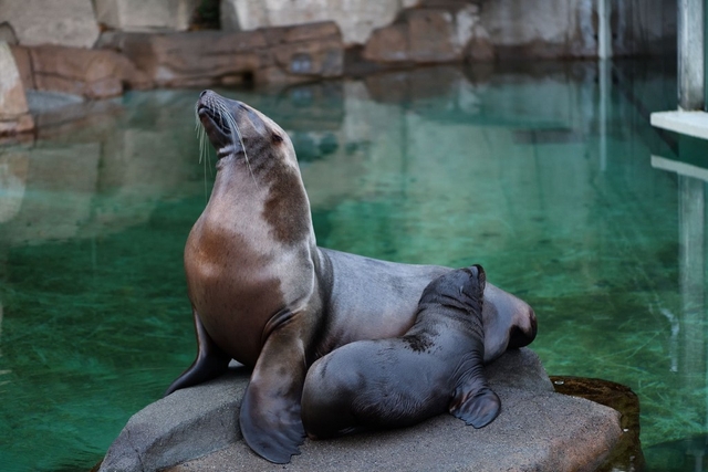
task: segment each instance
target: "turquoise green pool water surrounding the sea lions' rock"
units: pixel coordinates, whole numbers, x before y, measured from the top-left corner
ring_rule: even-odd
[[[321,245],[483,264],[534,307],[550,374],[639,395],[650,452],[708,432],[708,161],[647,120],[675,108],[674,69],[435,67],[221,92],[292,136]],[[198,161],[198,92],[48,112],[37,143],[0,148],[0,470],[90,469],[191,361],[181,252],[214,164]]]

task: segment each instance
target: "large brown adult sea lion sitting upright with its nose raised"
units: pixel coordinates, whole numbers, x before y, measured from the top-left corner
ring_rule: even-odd
[[[400,336],[423,289],[450,269],[377,261],[316,247],[292,143],[257,109],[205,91],[196,113],[217,150],[209,201],[185,247],[198,353],[166,395],[253,367],[239,413],[246,442],[287,463],[305,432],[308,367],[360,339]],[[533,340],[533,310],[487,284],[485,360]]]

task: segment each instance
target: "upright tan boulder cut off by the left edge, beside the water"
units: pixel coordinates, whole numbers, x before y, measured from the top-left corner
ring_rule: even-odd
[[[6,42],[0,42],[0,136],[34,129],[24,86],[14,56]]]

